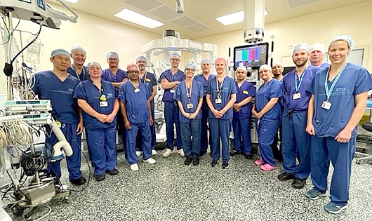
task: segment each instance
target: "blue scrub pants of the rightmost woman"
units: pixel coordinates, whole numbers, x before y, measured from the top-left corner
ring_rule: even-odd
[[[331,181],[331,201],[338,206],[345,206],[349,200],[350,175],[352,159],[357,138],[347,143],[340,143],[335,138],[311,138],[312,183],[320,192],[327,190],[329,163],[333,165]]]

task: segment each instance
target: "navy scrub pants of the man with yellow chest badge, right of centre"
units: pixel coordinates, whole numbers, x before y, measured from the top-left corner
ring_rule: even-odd
[[[252,154],[251,142],[251,118],[232,119],[232,131],[234,131],[234,149],[246,156]]]

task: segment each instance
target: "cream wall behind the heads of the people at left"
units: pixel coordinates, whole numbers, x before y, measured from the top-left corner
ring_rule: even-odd
[[[60,6],[52,5],[53,8],[61,10]],[[61,10],[62,11],[62,10]],[[64,10],[65,11],[65,10]],[[60,29],[41,29],[40,39],[43,43],[43,52],[40,58],[39,70],[51,69],[53,65],[49,61],[51,51],[54,48],[65,48],[67,51],[74,45],[83,46],[87,52],[86,64],[89,61],[98,61],[102,68],[107,68],[105,55],[109,51],[119,53],[121,68],[125,69],[129,62],[135,62],[140,55],[141,47],[152,39],[161,36],[145,32],[140,29],[123,25],[104,18],[77,11],[79,19],[76,24],[62,21]],[[14,26],[18,20],[13,20]],[[21,20],[18,29],[36,33],[39,25]],[[19,34],[15,32],[15,39],[20,46]],[[29,34],[22,34],[23,42],[29,38]],[[24,44],[25,46],[25,44]],[[0,46],[0,67],[4,67],[4,47]],[[6,93],[6,78],[1,71],[0,94]]]

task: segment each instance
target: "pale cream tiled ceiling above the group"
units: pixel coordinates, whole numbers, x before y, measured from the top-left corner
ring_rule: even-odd
[[[49,2],[55,2],[48,0]],[[265,23],[277,22],[303,15],[352,6],[371,0],[266,0],[268,15]],[[215,18],[243,10],[241,0],[184,0],[185,13],[175,12],[175,0],[79,0],[70,4],[74,10],[114,20],[124,25],[161,35],[165,29],[175,29],[182,39],[199,39],[243,29],[243,22],[222,25]],[[165,25],[150,29],[120,18],[114,14],[128,8]],[[79,12],[78,12],[79,13]]]

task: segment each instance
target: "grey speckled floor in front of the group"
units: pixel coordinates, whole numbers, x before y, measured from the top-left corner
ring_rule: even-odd
[[[311,201],[303,196],[311,188],[310,179],[300,190],[289,181],[277,180],[281,163],[277,170],[263,172],[253,160],[238,155],[223,170],[222,162],[210,166],[208,154],[199,166],[185,166],[178,154],[164,159],[162,152],[154,156],[154,165],[140,162],[137,172],[119,153],[119,175],[107,175],[102,182],[92,177],[83,192],[72,193],[70,203],[47,203],[51,213],[42,220],[372,220],[372,165],[368,163],[353,163],[349,208],[332,215],[323,210],[328,197]],[[87,177],[85,161],[82,171]],[[69,184],[65,166],[62,173],[62,182]],[[6,178],[1,180],[0,185],[6,183]],[[47,211],[40,207],[32,218]]]

